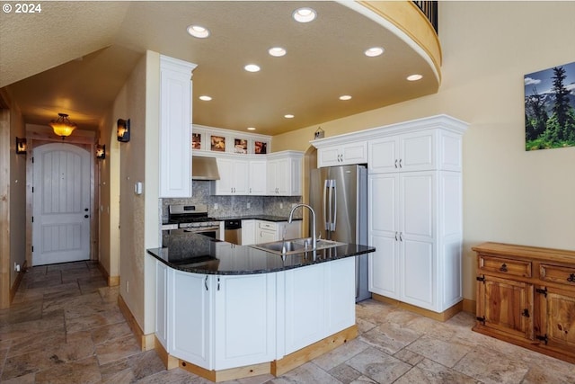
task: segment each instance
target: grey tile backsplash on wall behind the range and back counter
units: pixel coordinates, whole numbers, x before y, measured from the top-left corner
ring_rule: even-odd
[[[172,204],[206,204],[208,216],[214,218],[252,214],[288,217],[292,204],[302,201],[301,196],[215,196],[210,194],[213,183],[194,180],[191,198],[162,199],[163,219],[168,218],[168,207]],[[294,215],[301,218],[301,210],[294,212]]]

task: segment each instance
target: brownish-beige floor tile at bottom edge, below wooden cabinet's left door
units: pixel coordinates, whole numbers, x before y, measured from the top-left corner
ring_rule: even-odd
[[[454,369],[486,384],[500,384],[519,383],[529,366],[513,355],[478,346],[457,362]]]

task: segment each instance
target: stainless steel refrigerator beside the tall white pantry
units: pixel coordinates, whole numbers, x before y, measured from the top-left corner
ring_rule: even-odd
[[[321,238],[367,246],[367,168],[364,165],[313,169],[309,201],[315,210],[316,229]],[[310,224],[309,228],[312,227]],[[356,302],[370,297],[367,255],[356,256]]]

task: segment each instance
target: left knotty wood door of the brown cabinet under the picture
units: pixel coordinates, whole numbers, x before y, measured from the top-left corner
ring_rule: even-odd
[[[484,326],[533,340],[533,284],[485,275],[477,282],[477,317]]]

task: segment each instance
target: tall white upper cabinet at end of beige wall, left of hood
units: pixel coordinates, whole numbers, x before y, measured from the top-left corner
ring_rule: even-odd
[[[160,56],[160,197],[191,196],[191,71]]]

